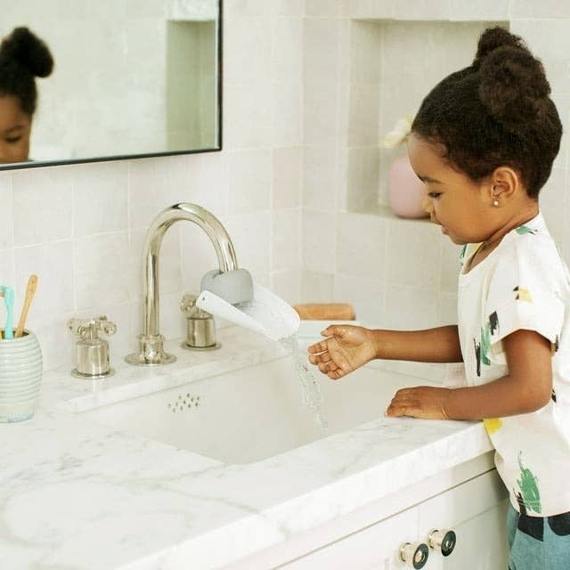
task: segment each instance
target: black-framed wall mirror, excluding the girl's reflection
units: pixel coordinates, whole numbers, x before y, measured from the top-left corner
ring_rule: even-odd
[[[36,78],[28,160],[0,169],[220,150],[221,0],[0,0],[0,13],[1,37],[27,27],[54,61]]]

